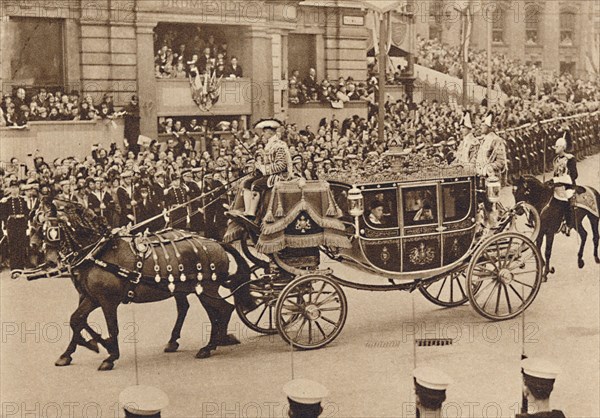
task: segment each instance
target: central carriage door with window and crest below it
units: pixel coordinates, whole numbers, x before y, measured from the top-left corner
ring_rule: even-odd
[[[442,265],[438,189],[437,182],[401,189],[404,272],[432,270]]]

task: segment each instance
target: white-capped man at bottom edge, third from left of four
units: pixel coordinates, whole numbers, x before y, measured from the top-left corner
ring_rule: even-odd
[[[417,418],[441,418],[446,388],[452,379],[433,367],[417,367],[413,371]]]

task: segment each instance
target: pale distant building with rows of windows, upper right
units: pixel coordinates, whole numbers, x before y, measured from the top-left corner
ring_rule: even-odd
[[[456,0],[417,2],[416,32],[460,45]],[[466,2],[463,2],[466,3]],[[544,70],[569,71],[579,77],[598,71],[600,3],[588,0],[472,0],[471,46],[486,49],[492,25],[492,51]]]

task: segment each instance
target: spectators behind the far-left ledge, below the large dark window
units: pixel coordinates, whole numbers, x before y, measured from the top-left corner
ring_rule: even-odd
[[[0,126],[7,127],[23,127],[30,121],[113,119],[117,115],[110,94],[95,104],[91,95],[82,100],[77,91],[52,93],[41,88],[28,96],[21,87],[14,94],[5,94],[0,104]]]

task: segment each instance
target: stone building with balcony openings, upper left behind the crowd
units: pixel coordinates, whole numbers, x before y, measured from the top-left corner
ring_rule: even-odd
[[[172,97],[154,73],[160,24],[222,28],[232,34],[247,83],[239,114],[249,122],[286,117],[290,65],[301,66],[301,72],[316,68],[318,80],[366,78],[367,11],[358,2],[3,0],[1,4],[4,93],[20,85],[33,90],[52,80],[50,84],[63,91],[91,94],[95,102],[112,94],[117,106],[138,94],[142,134],[150,137],[156,137],[161,115],[183,115],[186,109],[200,117],[238,114],[235,100],[207,112],[193,106],[189,98],[176,103],[184,99]],[[40,22],[55,29],[46,33],[42,29],[46,23]],[[38,34],[35,45],[27,42],[25,27]],[[61,53],[48,55],[50,50]],[[44,57],[42,62],[36,63],[36,55]],[[39,67],[44,71],[36,70]],[[189,82],[181,83],[180,87]]]

